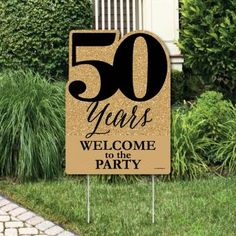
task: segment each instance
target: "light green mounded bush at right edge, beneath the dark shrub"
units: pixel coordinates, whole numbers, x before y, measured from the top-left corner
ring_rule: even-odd
[[[205,120],[202,133],[211,140],[208,155],[211,165],[228,172],[236,170],[236,108],[217,92],[204,93],[192,111],[192,119]]]

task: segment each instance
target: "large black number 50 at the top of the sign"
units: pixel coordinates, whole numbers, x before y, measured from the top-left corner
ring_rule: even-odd
[[[143,38],[147,45],[147,86],[146,93],[138,98],[133,86],[133,50],[137,38]],[[104,47],[115,42],[115,32],[75,32],[72,33],[72,67],[80,65],[94,66],[100,75],[100,91],[93,98],[79,96],[86,90],[83,81],[75,80],[69,84],[70,94],[86,102],[102,101],[117,92],[119,89],[127,98],[133,101],[147,101],[156,96],[161,90],[168,69],[167,55],[161,43],[146,32],[133,32],[128,37],[119,41],[115,52],[113,65],[99,60],[76,61],[76,47]]]

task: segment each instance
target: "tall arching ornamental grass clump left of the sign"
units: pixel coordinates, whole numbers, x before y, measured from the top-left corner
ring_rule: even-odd
[[[0,176],[51,179],[64,159],[64,86],[32,72],[0,74]]]

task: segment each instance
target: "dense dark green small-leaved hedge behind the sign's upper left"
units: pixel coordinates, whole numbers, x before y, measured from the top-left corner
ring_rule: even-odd
[[[91,28],[92,15],[90,0],[1,1],[0,69],[65,76],[69,31]]]

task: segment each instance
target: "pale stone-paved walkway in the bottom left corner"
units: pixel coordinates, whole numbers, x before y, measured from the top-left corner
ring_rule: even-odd
[[[0,195],[0,236],[75,236]]]

